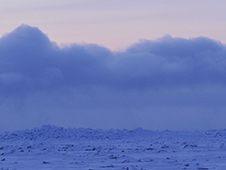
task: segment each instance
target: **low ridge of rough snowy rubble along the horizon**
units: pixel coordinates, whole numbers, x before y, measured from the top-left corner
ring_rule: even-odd
[[[172,137],[173,134],[173,137]],[[226,138],[226,129],[208,131],[151,131],[137,128],[126,129],[91,129],[91,128],[63,128],[53,125],[43,125],[40,128],[33,128],[0,134],[1,140],[51,140],[51,139],[72,139],[72,140],[121,140],[131,138],[185,138],[185,137],[208,137]]]

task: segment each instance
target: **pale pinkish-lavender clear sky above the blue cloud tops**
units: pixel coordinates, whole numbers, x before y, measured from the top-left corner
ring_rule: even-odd
[[[52,41],[121,50],[139,39],[205,36],[226,43],[225,0],[0,0],[0,35],[21,24]]]

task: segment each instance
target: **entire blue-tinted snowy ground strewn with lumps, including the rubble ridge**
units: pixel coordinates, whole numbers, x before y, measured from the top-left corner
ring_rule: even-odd
[[[93,130],[42,126],[0,134],[4,170],[225,170],[226,130]]]

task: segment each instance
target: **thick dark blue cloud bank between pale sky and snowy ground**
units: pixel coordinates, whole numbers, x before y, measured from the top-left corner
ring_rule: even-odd
[[[198,37],[143,40],[124,52],[58,46],[22,25],[0,39],[0,130],[225,128],[226,46]]]

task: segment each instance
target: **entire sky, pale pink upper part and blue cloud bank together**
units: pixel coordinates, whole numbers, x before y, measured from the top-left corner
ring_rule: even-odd
[[[0,2],[0,131],[225,128],[225,1]]]

